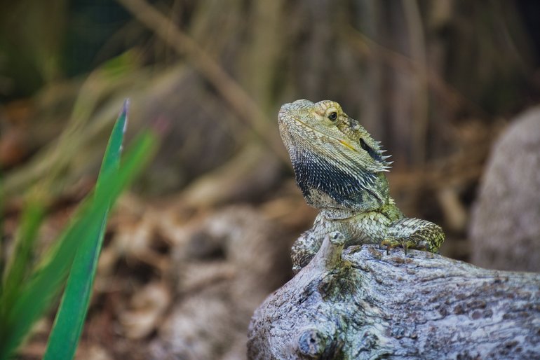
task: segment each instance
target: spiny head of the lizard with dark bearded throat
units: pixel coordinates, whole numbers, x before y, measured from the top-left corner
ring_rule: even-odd
[[[337,102],[284,104],[278,121],[308,204],[365,211],[386,201],[389,156]]]

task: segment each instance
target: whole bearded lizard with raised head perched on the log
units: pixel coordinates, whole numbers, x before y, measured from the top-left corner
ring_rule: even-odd
[[[436,252],[445,239],[430,221],[408,218],[389,194],[385,172],[391,167],[358,120],[334,101],[300,99],[283,104],[278,125],[297,186],[311,207],[319,209],[313,227],[292,244],[293,272],[315,256],[325,236],[335,231],[345,247],[380,244]]]

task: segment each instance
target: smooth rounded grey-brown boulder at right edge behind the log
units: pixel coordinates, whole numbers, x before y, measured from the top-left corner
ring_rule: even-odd
[[[475,265],[540,272],[540,107],[494,144],[469,235]]]

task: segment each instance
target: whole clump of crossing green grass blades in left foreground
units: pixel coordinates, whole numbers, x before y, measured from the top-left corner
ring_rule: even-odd
[[[32,198],[23,212],[14,250],[2,266],[0,359],[13,355],[32,325],[58,297],[68,274],[46,355],[47,359],[72,359],[88,310],[109,208],[155,151],[155,134],[146,132],[134,141],[119,165],[126,116],[125,106],[104,154],[95,191],[83,200],[71,223],[45,254],[33,251],[43,219],[39,197]]]

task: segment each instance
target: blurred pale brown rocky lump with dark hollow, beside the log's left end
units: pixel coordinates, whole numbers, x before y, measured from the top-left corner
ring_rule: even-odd
[[[173,250],[175,302],[147,359],[243,359],[250,316],[290,277],[290,240],[255,208],[205,216]]]

